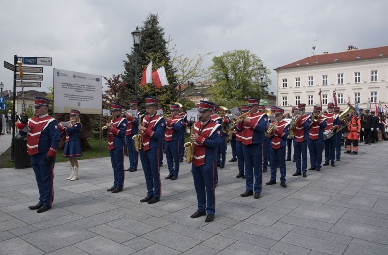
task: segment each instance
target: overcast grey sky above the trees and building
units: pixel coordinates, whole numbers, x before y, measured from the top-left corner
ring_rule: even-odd
[[[272,70],[275,91],[273,69],[312,55],[314,36],[316,54],[388,45],[387,9],[386,0],[0,0],[0,60],[53,57],[53,66],[44,67],[42,91],[52,86],[52,68],[122,73],[131,32],[157,13],[178,53],[249,49]],[[1,81],[12,89],[12,72],[1,67]]]

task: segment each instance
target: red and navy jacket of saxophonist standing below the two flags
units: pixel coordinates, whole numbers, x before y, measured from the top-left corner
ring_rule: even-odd
[[[146,128],[141,133],[143,139],[144,151],[149,149],[158,148],[160,139],[164,137],[165,134],[165,119],[163,116],[146,116],[143,119],[143,126]]]

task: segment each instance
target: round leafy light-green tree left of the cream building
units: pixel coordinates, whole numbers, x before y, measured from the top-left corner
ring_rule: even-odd
[[[209,69],[214,80],[212,92],[215,99],[246,101],[248,97],[265,97],[266,89],[260,86],[259,67],[262,61],[256,54],[249,50],[234,50],[212,60],[213,65]],[[266,69],[263,84],[271,84],[269,74]]]

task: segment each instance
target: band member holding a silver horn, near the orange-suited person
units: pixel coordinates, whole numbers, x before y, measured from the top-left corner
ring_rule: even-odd
[[[337,129],[341,125],[338,115],[334,112],[334,103],[328,103],[328,112],[323,114],[326,118],[327,126],[325,131],[333,131],[333,136],[324,140],[325,143],[325,163],[323,166],[329,166],[329,161],[332,167],[335,167],[335,144],[337,142]]]

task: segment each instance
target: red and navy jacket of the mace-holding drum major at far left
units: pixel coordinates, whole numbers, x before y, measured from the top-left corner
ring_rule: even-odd
[[[55,118],[49,115],[34,116],[27,125],[19,123],[19,134],[27,135],[27,153],[32,156],[38,153],[47,153],[55,158],[60,140],[60,128]]]

